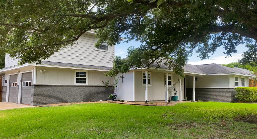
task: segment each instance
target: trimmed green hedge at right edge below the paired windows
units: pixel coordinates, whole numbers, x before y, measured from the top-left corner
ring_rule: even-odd
[[[257,87],[236,87],[235,91],[240,102],[257,101]]]

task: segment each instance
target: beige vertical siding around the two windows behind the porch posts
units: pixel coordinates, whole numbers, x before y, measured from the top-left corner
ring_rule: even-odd
[[[149,71],[151,72],[151,71]],[[148,85],[148,95],[149,100],[165,100],[165,93],[166,93],[166,87],[165,87],[165,73],[160,72],[151,72],[152,73],[152,85]],[[179,92],[179,76],[172,74],[172,83],[175,84],[177,82],[177,92],[178,96],[180,95]],[[183,91],[183,80],[181,85],[182,90],[182,100],[184,97],[184,91]],[[171,87],[168,87],[169,89],[172,89]],[[169,91],[170,92],[170,91]],[[173,93],[169,93],[169,96],[173,95]],[[180,99],[180,98],[179,98]],[[136,101],[145,101],[145,86],[142,85],[142,71],[135,72],[135,100]]]

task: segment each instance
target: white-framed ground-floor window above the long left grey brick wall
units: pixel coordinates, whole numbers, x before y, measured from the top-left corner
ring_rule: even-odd
[[[75,84],[88,85],[88,71],[75,70]]]

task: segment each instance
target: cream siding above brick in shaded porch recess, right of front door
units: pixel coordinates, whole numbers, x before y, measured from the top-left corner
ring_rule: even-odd
[[[197,76],[196,76],[197,78]],[[193,77],[186,76],[186,87],[193,87]],[[214,75],[214,76],[203,76],[198,77],[195,81],[196,88],[207,88],[207,87],[229,87],[228,86],[228,75]]]

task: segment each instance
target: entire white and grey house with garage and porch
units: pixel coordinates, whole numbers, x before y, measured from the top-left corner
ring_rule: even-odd
[[[0,69],[3,102],[43,105],[50,103],[107,100],[113,93],[113,78],[107,77],[112,68],[115,46],[97,42],[94,32],[83,34],[77,45],[62,49],[41,65],[17,65],[17,59],[6,55],[5,68]],[[117,78],[117,100],[126,101],[167,101],[174,95],[176,84],[178,100],[202,100],[236,102],[235,87],[249,87],[251,71],[230,68],[219,64],[184,66],[184,78],[164,64],[156,69],[131,69],[119,73]],[[110,81],[106,88],[103,81]],[[1,87],[2,86],[2,87]],[[1,96],[0,96],[1,101]]]

